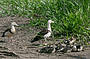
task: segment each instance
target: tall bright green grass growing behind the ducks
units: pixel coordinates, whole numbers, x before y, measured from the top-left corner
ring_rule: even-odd
[[[86,43],[90,41],[89,3],[89,0],[0,0],[0,13],[30,18],[31,26],[46,27],[47,20],[54,20],[55,37],[76,36]]]

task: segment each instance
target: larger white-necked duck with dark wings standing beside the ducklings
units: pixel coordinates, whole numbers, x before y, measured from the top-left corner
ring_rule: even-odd
[[[41,39],[44,39],[45,41],[47,41],[47,38],[49,38],[52,34],[51,23],[54,23],[54,21],[48,20],[47,29],[41,30],[37,34],[37,36],[33,40],[31,40],[31,43],[36,42],[36,41],[41,40]]]

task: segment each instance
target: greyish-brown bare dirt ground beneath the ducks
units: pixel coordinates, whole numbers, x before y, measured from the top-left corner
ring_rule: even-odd
[[[36,50],[40,47],[32,46],[32,40],[38,29],[34,27],[16,27],[16,33],[11,37],[1,37],[3,31],[12,21],[19,25],[28,24],[30,19],[22,17],[0,17],[0,59],[90,59],[90,48],[82,52],[65,54],[41,54]]]

